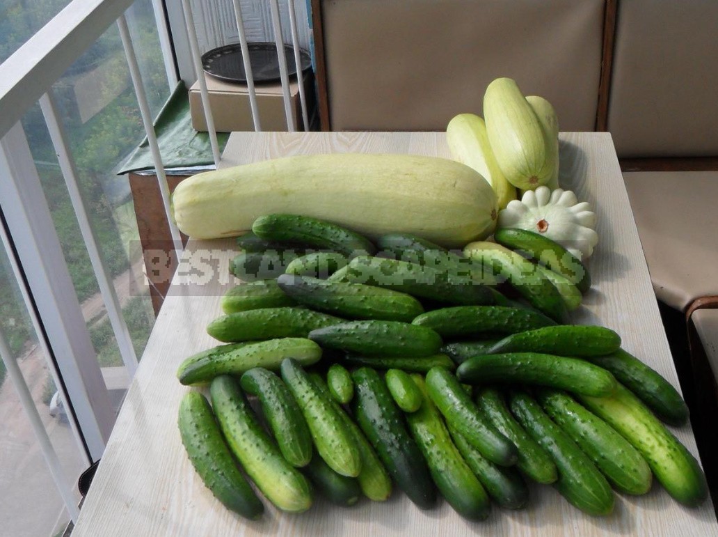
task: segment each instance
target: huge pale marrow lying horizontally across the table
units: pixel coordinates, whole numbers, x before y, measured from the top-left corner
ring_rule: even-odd
[[[419,155],[299,155],[200,173],[172,196],[198,239],[236,237],[265,214],[324,219],[367,237],[411,233],[444,247],[488,237],[496,195],[470,167]]]

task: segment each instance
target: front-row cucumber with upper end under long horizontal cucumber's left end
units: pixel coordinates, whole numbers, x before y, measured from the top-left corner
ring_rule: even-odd
[[[476,395],[476,404],[488,421],[516,446],[516,467],[524,475],[544,485],[558,479],[556,464],[551,456],[516,421],[498,390],[493,387],[480,389]]]

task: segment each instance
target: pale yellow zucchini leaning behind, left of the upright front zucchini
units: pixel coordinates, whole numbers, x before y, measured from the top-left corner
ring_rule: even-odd
[[[516,199],[516,187],[506,180],[491,150],[486,124],[476,114],[459,114],[447,125],[447,144],[457,162],[472,167],[488,180],[498,198],[498,208]]]

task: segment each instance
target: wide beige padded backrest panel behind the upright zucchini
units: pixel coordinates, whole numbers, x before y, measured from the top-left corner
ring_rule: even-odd
[[[602,0],[322,0],[332,130],[444,130],[494,78],[594,129]]]

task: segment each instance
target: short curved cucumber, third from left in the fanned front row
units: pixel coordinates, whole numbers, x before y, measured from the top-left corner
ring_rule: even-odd
[[[240,379],[242,389],[256,395],[262,413],[284,459],[303,467],[312,459],[312,436],[302,410],[284,382],[264,367],[254,367]]]

